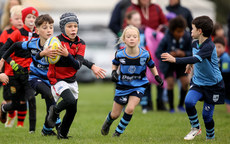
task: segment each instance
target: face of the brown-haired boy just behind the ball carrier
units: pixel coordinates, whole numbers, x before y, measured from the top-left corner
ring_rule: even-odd
[[[49,37],[53,36],[54,27],[53,23],[43,22],[38,28],[36,28],[36,33],[41,39],[47,40]]]

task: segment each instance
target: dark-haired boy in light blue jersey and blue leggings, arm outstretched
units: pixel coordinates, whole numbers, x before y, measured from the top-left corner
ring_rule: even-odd
[[[225,88],[221,72],[218,67],[217,52],[211,40],[213,21],[208,16],[200,16],[192,21],[193,56],[175,58],[169,53],[161,55],[162,61],[176,64],[188,64],[185,73],[190,73],[194,67],[190,89],[185,98],[185,106],[191,131],[184,137],[192,140],[201,134],[201,126],[198,120],[195,105],[204,100],[203,119],[206,128],[206,139],[215,138],[213,112],[216,104],[224,103]],[[194,66],[192,65],[194,64]]]

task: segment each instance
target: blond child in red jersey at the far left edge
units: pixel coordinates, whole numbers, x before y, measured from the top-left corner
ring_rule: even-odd
[[[10,22],[12,24],[12,27],[2,32],[0,36],[0,48],[5,44],[5,42],[7,41],[8,37],[11,35],[12,32],[14,32],[17,29],[21,29],[23,27],[21,11],[22,11],[22,6],[20,5],[14,6],[10,9]],[[7,62],[4,63],[4,73],[7,76],[13,76],[13,70]],[[11,95],[9,91],[10,91],[9,85],[3,83],[3,99],[7,103],[11,102]],[[8,113],[9,114],[8,114],[7,122],[5,123],[5,127],[12,127],[14,124],[16,112],[9,111]]]

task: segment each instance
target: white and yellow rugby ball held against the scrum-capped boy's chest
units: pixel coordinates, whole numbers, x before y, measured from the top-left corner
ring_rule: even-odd
[[[51,49],[58,49],[58,47],[61,45],[61,42],[59,41],[57,37],[50,37],[46,40],[44,44],[44,49],[48,48],[48,46],[50,45],[52,46]],[[60,58],[61,58],[60,55],[55,56],[55,58],[45,57],[46,61],[49,64],[57,63]]]

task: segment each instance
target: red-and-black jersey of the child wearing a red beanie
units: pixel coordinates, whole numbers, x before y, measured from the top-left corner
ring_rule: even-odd
[[[32,32],[26,25],[19,30],[15,30],[7,39],[6,43],[2,46],[0,54],[3,55],[4,52],[15,42],[19,41],[29,41],[32,38],[37,38],[38,35],[35,32]],[[22,67],[30,66],[32,58],[28,50],[17,49],[14,53],[14,56],[11,57],[17,64]]]

